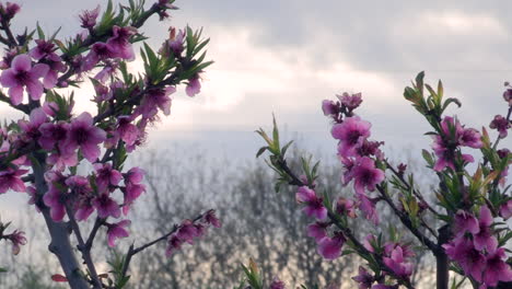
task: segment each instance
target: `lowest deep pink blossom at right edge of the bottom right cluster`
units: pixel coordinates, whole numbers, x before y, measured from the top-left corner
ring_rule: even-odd
[[[486,258],[484,282],[487,286],[494,287],[498,285],[498,281],[512,281],[512,269],[507,264],[507,254],[503,247],[489,253]]]

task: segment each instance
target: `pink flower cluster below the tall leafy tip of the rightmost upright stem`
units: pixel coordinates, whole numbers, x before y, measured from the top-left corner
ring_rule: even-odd
[[[441,122],[441,135],[433,137],[434,142],[432,144],[434,153],[438,157],[434,165],[435,171],[440,172],[445,167],[455,170],[456,163],[463,164],[475,161],[473,155],[457,153],[457,150],[459,147],[481,148],[481,136],[478,130],[465,128],[458,119],[445,116]]]

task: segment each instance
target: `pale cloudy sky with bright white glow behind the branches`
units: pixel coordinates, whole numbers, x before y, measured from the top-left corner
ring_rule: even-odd
[[[106,1],[24,0],[14,30],[42,27],[61,35],[79,31],[81,10]],[[119,2],[119,1],[116,1]],[[148,2],[151,2],[148,0]],[[303,132],[312,147],[335,152],[321,102],[341,92],[362,92],[360,115],[372,135],[395,149],[430,142],[421,116],[403,99],[405,85],[424,70],[442,79],[452,109],[480,128],[507,109],[502,83],[512,80],[510,1],[303,1],[187,0],[170,21],[142,31],[159,46],[168,26],[203,27],[211,38],[201,94],[175,94],[172,116],[151,134],[150,143],[199,143],[210,153],[254,158],[253,132],[274,112],[287,131]],[[140,60],[132,63],[140,68]],[[79,107],[91,88],[78,93]],[[5,106],[0,115],[12,117]],[[504,142],[505,146],[511,144]]]

